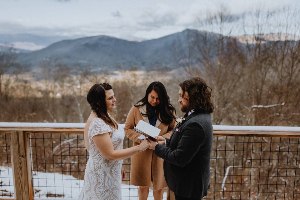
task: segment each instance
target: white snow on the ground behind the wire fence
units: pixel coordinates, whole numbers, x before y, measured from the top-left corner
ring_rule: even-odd
[[[13,193],[12,168],[0,167],[0,197],[2,194]],[[79,180],[71,175],[59,173],[45,173],[32,171],[33,188],[35,199],[77,199],[83,186],[83,180]],[[51,194],[62,195],[54,197]],[[167,193],[164,192],[163,199],[167,199]],[[122,184],[122,199],[138,199],[138,187],[128,184]],[[148,200],[154,199],[152,189],[150,189]]]

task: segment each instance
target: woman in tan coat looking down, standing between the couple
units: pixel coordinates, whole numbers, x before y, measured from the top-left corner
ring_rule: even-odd
[[[133,128],[143,120],[159,128],[160,136],[170,138],[176,126],[176,111],[170,103],[166,88],[161,82],[153,82],[146,89],[145,96],[129,111],[125,122],[125,135],[133,141],[133,146],[141,143],[140,136]],[[139,186],[139,200],[147,200],[149,187],[153,186],[155,200],[163,199],[163,189],[167,183],[163,174],[163,159],[153,150],[147,149],[131,157],[130,184]]]

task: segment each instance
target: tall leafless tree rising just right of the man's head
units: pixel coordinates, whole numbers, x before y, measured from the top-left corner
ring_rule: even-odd
[[[236,120],[233,113],[240,113],[234,103],[239,93],[237,86],[241,84],[241,77],[244,75],[246,57],[243,46],[235,37],[231,37],[233,27],[228,28],[228,22],[234,20],[236,16],[222,6],[219,12],[208,13],[207,18],[200,21],[203,29],[218,29],[221,34],[207,31],[197,34],[197,47],[201,55],[198,59],[198,68],[201,71],[199,75],[207,79],[214,91],[215,124],[221,124],[224,119],[232,123]]]

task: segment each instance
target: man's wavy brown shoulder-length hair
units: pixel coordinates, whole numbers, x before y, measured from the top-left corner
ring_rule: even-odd
[[[189,109],[200,113],[212,113],[212,88],[207,86],[202,78],[194,77],[189,78],[179,84],[183,90],[183,94],[186,91],[190,98]],[[183,96],[182,96],[183,97]]]

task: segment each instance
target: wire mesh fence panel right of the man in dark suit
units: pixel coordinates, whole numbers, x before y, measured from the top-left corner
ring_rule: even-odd
[[[300,199],[299,138],[214,137],[204,199]]]

